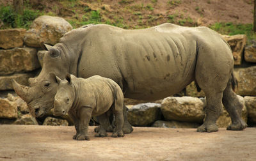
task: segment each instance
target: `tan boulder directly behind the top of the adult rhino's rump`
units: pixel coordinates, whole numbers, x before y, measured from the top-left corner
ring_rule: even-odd
[[[236,34],[233,36],[222,35],[223,38],[230,45],[233,57],[234,57],[234,65],[241,65],[241,57],[243,54],[244,46],[246,44],[246,35],[245,34]]]

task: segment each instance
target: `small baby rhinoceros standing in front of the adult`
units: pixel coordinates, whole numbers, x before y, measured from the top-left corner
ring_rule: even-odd
[[[68,113],[73,119],[76,127],[73,139],[90,140],[88,124],[91,116],[98,116],[100,125],[104,125],[106,112],[113,112],[116,118],[112,137],[124,137],[124,95],[116,82],[99,75],[88,79],[67,75],[64,81],[57,76],[55,78],[58,88],[54,97],[53,114],[61,116]],[[99,128],[95,134],[95,137],[106,136],[104,128]]]

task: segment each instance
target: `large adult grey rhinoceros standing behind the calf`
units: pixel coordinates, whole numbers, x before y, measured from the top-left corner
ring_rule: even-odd
[[[232,91],[232,52],[220,34],[207,27],[162,24],[127,30],[101,24],[74,29],[60,43],[46,47],[49,52],[42,72],[30,80],[30,86],[13,83],[36,116],[44,115],[53,105],[56,84],[49,73],[61,79],[72,73],[83,78],[108,77],[120,85],[125,97],[146,100],[179,93],[196,81],[207,99],[207,115],[198,132],[218,130],[222,103],[232,119],[227,129],[246,128],[240,116],[243,105]],[[129,127],[127,121],[125,125]]]

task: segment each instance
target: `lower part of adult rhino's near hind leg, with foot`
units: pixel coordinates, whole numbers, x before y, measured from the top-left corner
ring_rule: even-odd
[[[221,114],[222,108],[222,93],[205,93],[206,95],[206,118],[200,127],[197,128],[197,132],[216,132],[218,126],[216,121]]]

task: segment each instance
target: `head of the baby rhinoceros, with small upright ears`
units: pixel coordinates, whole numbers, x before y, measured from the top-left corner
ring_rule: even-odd
[[[56,82],[58,82],[58,87],[54,96],[53,114],[54,116],[61,116],[67,114],[71,108],[75,99],[75,91],[70,75],[67,75],[63,81],[56,76]]]

